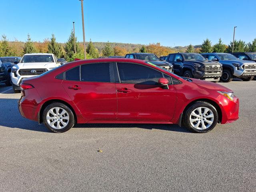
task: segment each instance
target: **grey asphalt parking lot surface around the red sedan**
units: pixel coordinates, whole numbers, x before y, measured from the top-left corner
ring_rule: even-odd
[[[0,191],[256,191],[256,81],[220,84],[240,98],[240,119],[205,134],[140,124],[55,134],[22,118],[20,94],[0,84]]]

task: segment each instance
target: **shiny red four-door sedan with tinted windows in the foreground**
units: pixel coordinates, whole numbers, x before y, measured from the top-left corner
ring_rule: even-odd
[[[75,123],[145,123],[202,133],[238,119],[232,90],[142,60],[75,61],[24,79],[21,88],[20,114],[54,132]]]

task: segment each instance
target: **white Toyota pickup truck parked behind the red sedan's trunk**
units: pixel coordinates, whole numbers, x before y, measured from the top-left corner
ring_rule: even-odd
[[[56,56],[50,53],[24,54],[20,63],[15,62],[15,64],[11,73],[12,88],[15,93],[20,92],[20,84],[24,78],[38,76],[60,66]]]

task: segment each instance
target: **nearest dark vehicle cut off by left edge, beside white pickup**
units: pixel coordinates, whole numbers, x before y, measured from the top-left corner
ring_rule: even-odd
[[[6,86],[12,85],[12,80],[10,76],[11,70],[12,70],[12,63],[10,62],[2,63],[0,58],[0,83],[5,83]]]

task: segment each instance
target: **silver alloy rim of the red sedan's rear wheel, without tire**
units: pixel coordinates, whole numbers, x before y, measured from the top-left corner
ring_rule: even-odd
[[[63,129],[68,125],[68,112],[61,107],[53,107],[46,114],[47,123],[54,129]]]

